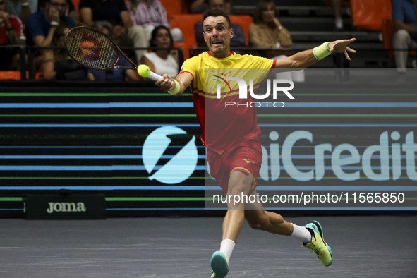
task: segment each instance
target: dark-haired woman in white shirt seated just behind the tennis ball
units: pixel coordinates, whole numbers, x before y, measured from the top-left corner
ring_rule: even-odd
[[[173,43],[171,33],[167,27],[163,25],[157,26],[152,31],[150,47],[169,48],[172,47]],[[149,66],[151,71],[159,75],[167,73],[174,78],[179,73],[178,63],[176,62],[176,59],[169,54],[169,50],[161,49],[145,53],[141,63]]]

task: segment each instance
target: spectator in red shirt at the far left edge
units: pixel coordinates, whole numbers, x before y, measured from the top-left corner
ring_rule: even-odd
[[[25,45],[22,21],[6,10],[7,1],[0,0],[0,45]],[[0,49],[0,57],[0,70],[16,70],[18,68],[20,56],[16,54],[16,49]]]

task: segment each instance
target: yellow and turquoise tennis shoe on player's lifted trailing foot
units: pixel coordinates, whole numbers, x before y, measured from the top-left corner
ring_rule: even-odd
[[[325,238],[323,237],[322,226],[320,226],[320,223],[317,221],[313,221],[305,225],[305,227],[308,229],[308,231],[310,231],[311,242],[307,244],[303,243],[303,246],[301,247],[306,247],[311,252],[316,253],[323,265],[325,265],[325,267],[332,265],[332,249],[325,242]]]

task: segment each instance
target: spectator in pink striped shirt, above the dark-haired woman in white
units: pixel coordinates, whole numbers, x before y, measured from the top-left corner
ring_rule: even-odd
[[[126,1],[129,14],[134,25],[140,25],[150,40],[152,30],[159,25],[169,28],[167,12],[159,0],[128,0]],[[183,34],[179,28],[173,28],[171,35],[174,42],[182,42]]]

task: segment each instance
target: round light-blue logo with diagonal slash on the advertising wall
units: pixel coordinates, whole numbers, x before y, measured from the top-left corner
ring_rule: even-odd
[[[193,174],[198,160],[195,136],[193,135],[193,138],[184,146],[174,146],[171,145],[171,139],[167,136],[176,134],[187,133],[176,126],[164,126],[162,128],[157,128],[147,136],[145,143],[143,144],[143,164],[149,174],[151,174],[155,168],[157,169],[157,171],[149,177],[151,181],[156,179],[161,183],[176,184],[185,181]],[[164,155],[167,147],[179,147],[181,150],[176,152],[176,155],[172,157],[172,155]],[[159,162],[159,159],[161,158],[169,159],[169,161],[164,165],[161,165]]]

